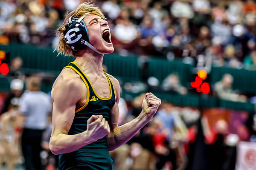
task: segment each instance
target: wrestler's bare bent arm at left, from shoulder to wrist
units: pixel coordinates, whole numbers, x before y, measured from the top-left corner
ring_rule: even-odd
[[[86,88],[82,88],[83,82],[79,82],[80,77],[69,76],[69,74],[66,74],[65,78],[60,76],[52,93],[54,102],[49,148],[55,155],[73,152],[95,141],[88,130],[75,135],[67,135],[75,116],[76,103],[82,99],[84,94],[87,94]],[[88,119],[87,125],[98,117],[92,116]]]

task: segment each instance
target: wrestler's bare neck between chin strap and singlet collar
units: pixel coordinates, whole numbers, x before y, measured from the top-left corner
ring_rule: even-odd
[[[82,55],[77,55],[75,62],[79,65],[82,71],[88,73],[95,73],[97,75],[102,74],[102,62],[103,55],[92,53],[83,53]]]

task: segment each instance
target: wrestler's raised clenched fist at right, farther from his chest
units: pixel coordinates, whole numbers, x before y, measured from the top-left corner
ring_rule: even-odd
[[[151,119],[157,112],[160,105],[161,99],[157,98],[157,96],[152,93],[146,93],[141,108],[143,113],[145,113],[145,115]]]

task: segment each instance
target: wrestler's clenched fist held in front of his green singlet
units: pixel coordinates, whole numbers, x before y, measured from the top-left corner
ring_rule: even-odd
[[[87,120],[87,135],[92,142],[103,138],[110,132],[108,121],[102,115],[93,115]]]

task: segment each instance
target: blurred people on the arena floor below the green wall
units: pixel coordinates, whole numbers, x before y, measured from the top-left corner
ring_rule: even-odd
[[[49,150],[52,100],[40,85],[36,75],[11,82],[0,107],[0,169],[58,167],[58,156]],[[119,125],[140,114],[144,96],[120,98]],[[256,112],[180,107],[163,101],[151,122],[111,152],[114,169],[235,170],[239,143],[256,142],[255,118]]]

